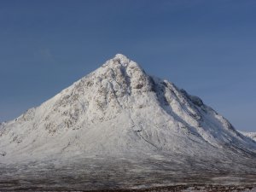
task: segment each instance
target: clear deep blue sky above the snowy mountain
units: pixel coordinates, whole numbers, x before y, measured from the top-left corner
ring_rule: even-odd
[[[254,0],[1,0],[0,121],[116,53],[256,131]]]

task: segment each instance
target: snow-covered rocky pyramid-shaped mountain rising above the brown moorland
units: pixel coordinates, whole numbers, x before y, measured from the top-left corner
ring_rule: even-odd
[[[120,54],[0,125],[3,163],[95,155],[228,160],[255,153],[256,144],[199,97]]]

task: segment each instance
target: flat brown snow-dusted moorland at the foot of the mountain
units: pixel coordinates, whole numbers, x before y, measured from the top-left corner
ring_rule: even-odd
[[[0,164],[0,191],[256,191],[255,169],[190,164],[100,158]]]

